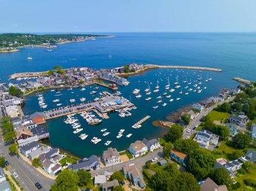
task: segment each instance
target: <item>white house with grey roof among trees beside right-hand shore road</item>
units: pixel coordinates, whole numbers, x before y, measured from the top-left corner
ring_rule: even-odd
[[[214,135],[209,130],[201,130],[197,132],[193,140],[196,141],[200,147],[208,149],[210,144],[214,146],[218,145],[219,136]]]

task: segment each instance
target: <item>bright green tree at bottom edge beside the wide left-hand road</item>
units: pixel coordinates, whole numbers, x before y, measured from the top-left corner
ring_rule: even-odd
[[[51,186],[52,191],[77,191],[79,177],[76,172],[71,169],[64,169],[55,179],[55,184]]]

